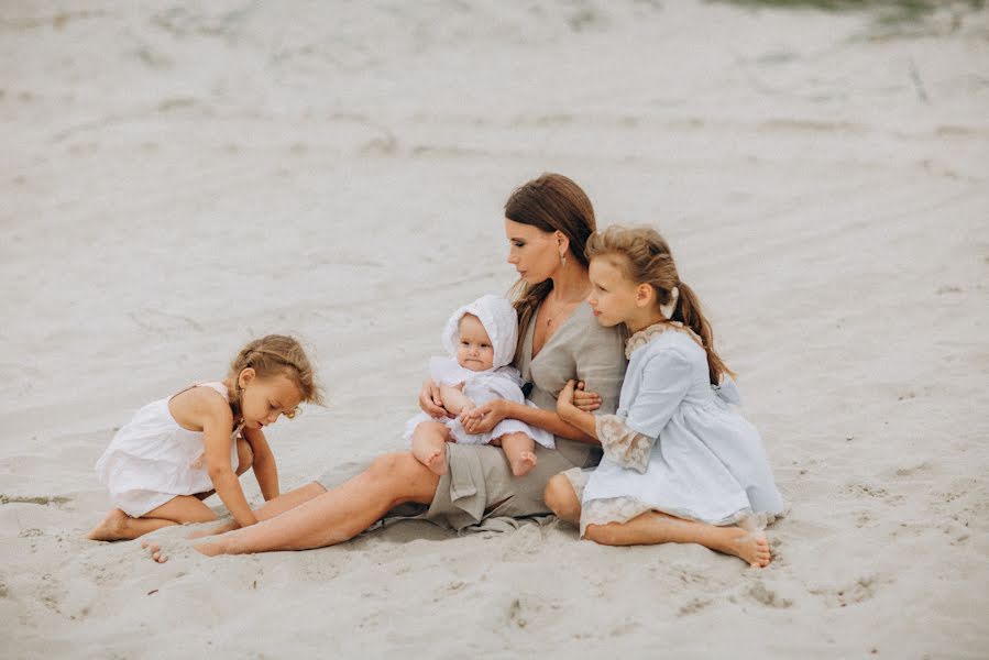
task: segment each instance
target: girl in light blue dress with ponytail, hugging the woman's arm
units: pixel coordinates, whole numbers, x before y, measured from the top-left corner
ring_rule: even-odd
[[[597,321],[625,323],[630,338],[615,415],[575,408],[572,382],[559,396],[560,417],[604,449],[593,472],[563,473],[581,499],[581,536],[609,544],[685,540],[670,534],[672,516],[680,532],[695,532],[691,541],[768,564],[761,529],[783,502],[758,431],[729,406],[739,403],[733,374],[667,242],[652,229],[611,227],[591,238],[587,256]]]

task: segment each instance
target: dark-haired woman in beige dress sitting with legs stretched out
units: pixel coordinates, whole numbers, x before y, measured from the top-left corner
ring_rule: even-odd
[[[557,449],[537,448],[538,464],[531,472],[513,476],[504,452],[490,446],[448,443],[449,469],[442,476],[409,452],[386,454],[340,485],[321,479],[272,499],[255,513],[263,522],[221,534],[197,550],[215,556],[331,546],[406,503],[428,505],[424,517],[455,529],[490,516],[550,513],[543,501],[550,477],[594,465],[601,458],[596,440],[557,415],[557,394],[575,378],[597,393],[587,397],[589,407],[614,413],[626,365],[622,331],[601,327],[585,302],[591,285],[584,249],[594,230],[587,196],[559,174],[528,182],[505,205],[508,263],[520,276],[515,302],[520,339],[514,364],[532,384],[529,398],[538,408],[492,402],[476,408],[464,426],[470,432],[485,432],[510,417],[552,432]],[[446,414],[432,383],[424,386],[419,403],[430,415]],[[152,551],[164,561],[157,548]]]

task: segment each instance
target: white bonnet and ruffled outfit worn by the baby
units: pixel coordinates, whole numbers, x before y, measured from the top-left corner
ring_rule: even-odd
[[[491,339],[494,361],[490,370],[471,371],[460,366],[453,358],[457,355],[457,344],[460,341],[460,319],[465,314],[477,317]],[[487,295],[464,305],[447,321],[442,341],[451,358],[430,359],[429,374],[437,384],[453,386],[463,383],[464,395],[477,406],[495,399],[506,399],[536,407],[521,392],[523,381],[518,370],[510,366],[518,343],[518,317],[508,300]],[[468,433],[460,419],[433,418],[426,413],[420,413],[406,422],[403,438],[410,441],[416,427],[424,421],[444,424],[450,429],[450,435],[461,444],[487,444],[507,433],[521,432],[547,449],[556,448],[552,433],[517,419],[503,419],[486,433]]]

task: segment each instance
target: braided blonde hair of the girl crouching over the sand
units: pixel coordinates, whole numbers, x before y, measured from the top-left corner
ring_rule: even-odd
[[[230,363],[230,376],[234,385],[240,373],[249,367],[261,378],[286,376],[298,387],[304,402],[323,405],[322,393],[316,383],[309,358],[301,344],[292,337],[268,334],[249,342]],[[235,392],[233,403],[240,406],[241,389],[235,386],[232,389]]]

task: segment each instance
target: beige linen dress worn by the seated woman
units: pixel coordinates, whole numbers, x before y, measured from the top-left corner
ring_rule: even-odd
[[[563,321],[532,358],[536,315],[525,330],[515,367],[532,384],[528,398],[543,410],[556,410],[557,395],[575,378],[601,395],[600,414],[614,414],[625,375],[625,334],[618,328],[603,328],[590,305],[580,306]],[[556,437],[557,449],[536,447],[539,462],[525,476],[515,476],[505,452],[486,444],[447,443],[447,474],[440,477],[429,508],[418,516],[408,506],[394,512],[400,517],[421,517],[457,530],[492,517],[519,518],[550,513],[542,498],[550,477],[571,468],[589,468],[601,460],[592,444]],[[348,475],[350,476],[350,475]],[[344,481],[333,470],[318,481],[331,488]],[[392,514],[389,514],[391,516]]]

